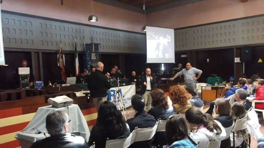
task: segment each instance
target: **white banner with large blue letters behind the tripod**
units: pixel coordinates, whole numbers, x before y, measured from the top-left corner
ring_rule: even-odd
[[[108,91],[109,101],[113,102],[116,105],[116,107],[119,110],[121,110],[121,108],[119,107],[120,101],[118,101],[119,97],[117,96],[115,98],[115,96],[117,95],[117,90],[118,90],[118,87],[110,88],[110,90]],[[129,85],[129,86],[119,87],[119,91],[120,91],[120,95],[123,97],[125,107],[127,108],[127,107],[131,106],[131,97],[133,95],[135,95],[135,93],[136,93],[135,84]],[[117,99],[116,103],[113,101],[114,99]]]

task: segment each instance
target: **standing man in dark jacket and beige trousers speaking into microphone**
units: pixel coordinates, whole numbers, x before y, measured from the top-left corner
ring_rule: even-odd
[[[141,93],[143,94],[143,97],[145,99],[145,104],[148,106],[148,110],[151,109],[151,96],[150,92],[151,90],[155,89],[154,85],[157,84],[155,77],[151,77],[151,70],[149,68],[146,69],[146,75],[141,76],[140,78],[140,85],[142,86],[141,88]],[[146,108],[146,106],[145,106]]]

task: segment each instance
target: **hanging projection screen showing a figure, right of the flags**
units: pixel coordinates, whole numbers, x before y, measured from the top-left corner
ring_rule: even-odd
[[[147,63],[174,63],[174,29],[146,26]]]

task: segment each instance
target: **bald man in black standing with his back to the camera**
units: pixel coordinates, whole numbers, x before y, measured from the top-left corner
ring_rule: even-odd
[[[98,111],[100,105],[107,101],[107,92],[111,88],[111,84],[108,81],[110,77],[103,74],[104,64],[102,62],[96,63],[96,70],[92,72],[88,78],[88,88],[91,92],[91,98],[93,98],[94,105]]]

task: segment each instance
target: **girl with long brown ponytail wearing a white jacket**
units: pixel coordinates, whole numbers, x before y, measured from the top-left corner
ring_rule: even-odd
[[[189,108],[185,117],[190,127],[198,127],[192,138],[197,142],[199,148],[220,148],[221,141],[226,137],[224,127],[214,120],[210,114],[203,114],[200,109]],[[197,147],[198,147],[197,145]]]

